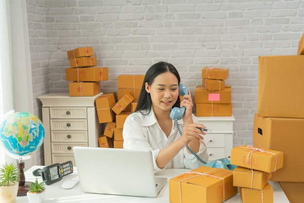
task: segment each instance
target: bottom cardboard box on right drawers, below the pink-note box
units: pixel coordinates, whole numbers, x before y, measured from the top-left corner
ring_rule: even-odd
[[[196,116],[232,116],[232,103],[196,103]]]

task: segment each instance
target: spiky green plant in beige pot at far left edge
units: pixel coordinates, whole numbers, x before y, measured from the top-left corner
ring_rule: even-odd
[[[13,163],[0,168],[0,203],[15,203],[19,186],[19,170]]]

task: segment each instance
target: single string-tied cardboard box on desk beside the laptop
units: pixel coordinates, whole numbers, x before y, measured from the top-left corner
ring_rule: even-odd
[[[203,166],[169,179],[170,203],[221,203],[236,193],[228,169]]]

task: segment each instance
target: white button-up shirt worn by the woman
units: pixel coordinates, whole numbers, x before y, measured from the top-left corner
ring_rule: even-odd
[[[197,123],[198,119],[192,115],[193,122]],[[179,120],[181,130],[183,130],[183,120]],[[147,115],[139,112],[129,115],[123,125],[123,148],[124,149],[145,149],[152,151],[154,171],[161,171],[166,168],[174,169],[195,169],[203,166],[193,154],[187,152],[186,147],[182,149],[166,167],[160,169],[156,165],[156,158],[160,150],[166,148],[174,141],[178,140],[181,135],[177,130],[175,122],[172,120],[172,129],[170,135],[162,131],[155,118],[153,109]],[[201,140],[199,152],[197,153],[201,159],[208,161],[208,153],[204,140]]]

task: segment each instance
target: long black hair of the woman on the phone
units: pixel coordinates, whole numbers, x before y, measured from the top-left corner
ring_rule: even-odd
[[[176,76],[176,78],[178,80],[178,85],[180,84],[181,78],[178,74],[178,71],[172,64],[167,63],[167,62],[158,62],[158,63],[152,65],[146,72],[135,111],[140,111],[142,113],[141,110],[148,110],[147,114],[150,113],[151,107],[152,107],[152,100],[151,100],[151,95],[146,91],[145,84],[148,83],[148,85],[151,85],[156,76],[158,76],[161,73],[168,72],[168,71],[173,73]],[[179,97],[177,98],[177,101],[174,103],[172,108],[175,106],[180,107]]]

